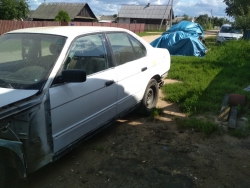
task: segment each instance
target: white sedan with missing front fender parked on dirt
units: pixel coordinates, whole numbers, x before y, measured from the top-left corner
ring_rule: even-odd
[[[113,27],[41,27],[0,37],[0,187],[131,110],[149,113],[170,69],[166,49]]]

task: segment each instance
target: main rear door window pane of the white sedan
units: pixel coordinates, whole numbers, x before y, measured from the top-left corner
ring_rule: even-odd
[[[108,33],[107,36],[115,56],[117,66],[137,59],[127,34]]]

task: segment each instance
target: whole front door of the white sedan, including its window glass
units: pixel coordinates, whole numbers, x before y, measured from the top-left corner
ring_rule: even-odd
[[[77,38],[63,70],[82,69],[87,80],[49,89],[54,152],[111,120],[116,113],[117,85],[103,34]]]

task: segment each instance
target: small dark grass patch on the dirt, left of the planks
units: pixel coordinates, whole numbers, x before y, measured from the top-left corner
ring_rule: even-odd
[[[211,135],[212,133],[219,130],[219,126],[207,120],[198,118],[176,118],[178,129],[193,129],[200,131],[205,135]]]

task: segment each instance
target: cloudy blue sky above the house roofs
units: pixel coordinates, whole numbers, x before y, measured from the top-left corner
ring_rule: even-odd
[[[171,0],[170,0],[171,1]],[[35,10],[44,0],[28,0],[31,10]],[[113,15],[117,14],[121,5],[136,4],[146,5],[167,5],[169,0],[46,0],[46,3],[51,2],[67,2],[67,3],[88,3],[95,15]],[[209,16],[224,17],[226,5],[223,0],[173,0],[174,15],[182,16],[199,16],[208,14]]]

